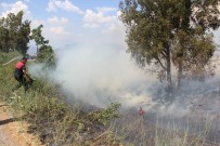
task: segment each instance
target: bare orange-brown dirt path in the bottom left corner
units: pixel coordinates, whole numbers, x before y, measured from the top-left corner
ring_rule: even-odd
[[[26,131],[27,123],[12,117],[9,106],[0,103],[0,146],[42,146]]]

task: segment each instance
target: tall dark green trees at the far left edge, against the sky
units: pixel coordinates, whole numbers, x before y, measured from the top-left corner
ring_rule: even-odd
[[[16,15],[9,13],[7,17],[0,18],[0,51],[9,53],[18,51],[23,55],[28,50],[30,21],[23,22],[24,12]]]

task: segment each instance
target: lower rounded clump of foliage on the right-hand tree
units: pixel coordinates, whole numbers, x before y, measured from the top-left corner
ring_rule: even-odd
[[[181,64],[182,77],[204,80],[205,77],[212,77],[215,66],[211,65],[216,47],[212,35],[203,34],[202,29],[195,29],[192,35],[178,31],[177,43],[173,44],[172,62],[179,67]]]

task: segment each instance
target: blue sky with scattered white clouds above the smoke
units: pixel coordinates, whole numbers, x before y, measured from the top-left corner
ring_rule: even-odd
[[[43,25],[42,35],[54,50],[87,45],[125,48],[125,27],[118,19],[120,0],[0,0],[0,16],[25,12],[31,29]],[[36,53],[34,42],[29,53]]]

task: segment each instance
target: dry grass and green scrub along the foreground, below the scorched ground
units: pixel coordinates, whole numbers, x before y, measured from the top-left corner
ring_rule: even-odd
[[[0,53],[0,64],[18,54]],[[14,115],[30,123],[28,133],[39,136],[42,144],[67,146],[200,146],[219,145],[206,143],[199,135],[172,130],[163,130],[144,117],[135,114],[120,115],[120,104],[111,104],[106,109],[91,107],[85,110],[85,104],[69,104],[61,92],[60,85],[44,79],[36,79],[29,93],[24,95],[21,88],[12,92],[16,83],[13,66],[0,66],[0,99],[14,109]],[[87,108],[89,105],[86,105]],[[119,117],[119,118],[118,118]],[[147,118],[147,117],[146,117]],[[207,132],[205,129],[204,132]]]

